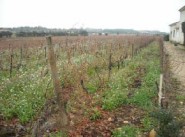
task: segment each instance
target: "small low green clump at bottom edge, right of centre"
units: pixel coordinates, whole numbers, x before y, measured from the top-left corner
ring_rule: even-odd
[[[113,132],[113,137],[138,137],[140,131],[138,128],[128,125],[118,128]]]

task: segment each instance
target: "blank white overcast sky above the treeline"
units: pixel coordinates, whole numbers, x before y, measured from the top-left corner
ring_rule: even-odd
[[[0,27],[125,28],[169,32],[185,0],[0,0]]]

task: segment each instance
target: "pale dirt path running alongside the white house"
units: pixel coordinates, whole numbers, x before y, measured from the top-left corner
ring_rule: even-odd
[[[181,45],[174,46],[166,42],[164,43],[164,50],[169,55],[172,77],[177,81],[174,82],[177,88],[171,89],[173,98],[170,99],[170,103],[173,104],[172,102],[175,102],[177,116],[185,121],[185,47]],[[185,136],[185,127],[181,136]]]

